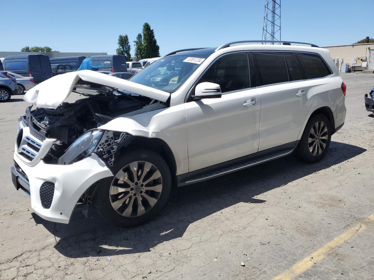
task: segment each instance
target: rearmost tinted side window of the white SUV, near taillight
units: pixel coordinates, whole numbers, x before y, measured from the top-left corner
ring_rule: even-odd
[[[315,53],[296,53],[307,79],[321,78],[331,74],[325,62]]]

